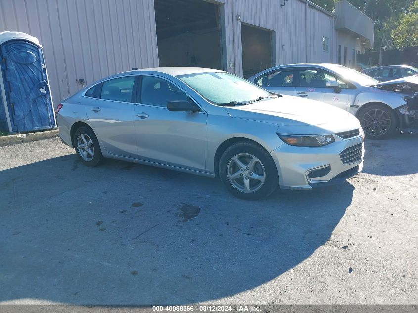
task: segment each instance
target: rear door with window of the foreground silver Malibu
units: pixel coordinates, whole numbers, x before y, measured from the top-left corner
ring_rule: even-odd
[[[137,158],[134,129],[137,75],[109,79],[85,94],[86,113],[106,152]]]

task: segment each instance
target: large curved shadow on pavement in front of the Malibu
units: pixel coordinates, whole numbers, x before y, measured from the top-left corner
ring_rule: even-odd
[[[354,187],[247,202],[216,179],[67,155],[0,172],[0,302],[204,302],[324,245]]]

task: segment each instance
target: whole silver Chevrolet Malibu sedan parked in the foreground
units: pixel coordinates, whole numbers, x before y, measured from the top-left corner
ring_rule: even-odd
[[[57,107],[61,140],[87,166],[113,158],[218,177],[235,196],[312,189],[361,171],[350,113],[274,94],[220,70],[150,68],[113,75]]]

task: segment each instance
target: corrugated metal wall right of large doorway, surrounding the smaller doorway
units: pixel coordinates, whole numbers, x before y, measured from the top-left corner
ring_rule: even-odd
[[[226,42],[231,43],[226,47],[226,58],[235,65],[230,72],[242,75],[241,23],[272,31],[276,64],[333,62],[336,58],[333,17],[311,3],[291,0],[281,7],[283,2],[278,0],[211,2],[224,6]],[[323,52],[323,36],[329,38],[328,52]]]

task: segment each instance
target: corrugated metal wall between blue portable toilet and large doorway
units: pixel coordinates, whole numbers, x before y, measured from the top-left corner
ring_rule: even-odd
[[[0,32],[37,37],[55,107],[102,77],[158,66],[153,0],[0,0]]]

